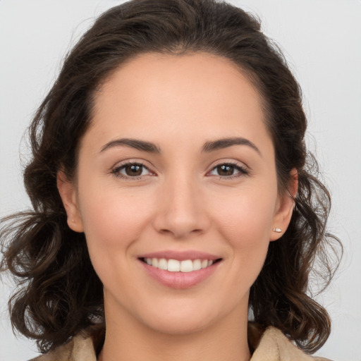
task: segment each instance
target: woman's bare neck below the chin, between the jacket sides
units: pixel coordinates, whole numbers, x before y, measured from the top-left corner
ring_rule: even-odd
[[[117,319],[121,322],[116,322]],[[129,314],[106,317],[106,337],[98,360],[249,361],[247,310],[187,334],[150,329]]]

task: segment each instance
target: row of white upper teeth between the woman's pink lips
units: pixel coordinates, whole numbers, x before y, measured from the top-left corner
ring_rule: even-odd
[[[153,266],[158,269],[164,269],[170,272],[198,271],[199,269],[203,269],[214,264],[214,261],[209,259],[185,259],[184,261],[169,259],[167,261],[165,258],[145,258],[145,262],[149,264],[149,266]]]

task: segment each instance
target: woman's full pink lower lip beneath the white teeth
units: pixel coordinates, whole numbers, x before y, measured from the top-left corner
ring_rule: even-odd
[[[196,286],[198,283],[201,283],[211,276],[221,263],[216,262],[212,264],[212,266],[192,272],[170,272],[164,269],[149,266],[149,264],[142,262],[141,260],[139,260],[139,262],[153,279],[164,286],[177,289],[185,289]]]

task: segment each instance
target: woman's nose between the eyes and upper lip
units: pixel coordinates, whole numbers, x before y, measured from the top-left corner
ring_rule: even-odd
[[[169,233],[179,240],[207,231],[207,202],[199,182],[189,174],[173,176],[164,180],[159,192],[153,223],[159,233]]]

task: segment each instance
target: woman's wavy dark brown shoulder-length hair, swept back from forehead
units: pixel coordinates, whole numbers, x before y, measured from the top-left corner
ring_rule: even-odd
[[[302,94],[281,51],[262,33],[259,20],[231,4],[134,0],[97,18],[66,56],[30,126],[32,159],[24,182],[33,209],[3,219],[2,267],[18,282],[9,301],[11,322],[37,340],[42,352],[104,321],[102,283],[92,268],[85,235],[68,228],[56,188],[59,169],[70,179],[75,173],[97,87],[139,54],[197,51],[233,61],[257,87],[274,142],[279,192],[288,189],[291,169],[298,170],[290,225],[280,240],[270,243],[250,290],[254,326],[259,331],[276,326],[309,353],[328,338],[329,315],[310,297],[310,276],[317,269],[317,277],[325,286],[329,283],[331,265],[338,264],[338,240],[326,233],[330,196],[305,147]]]

